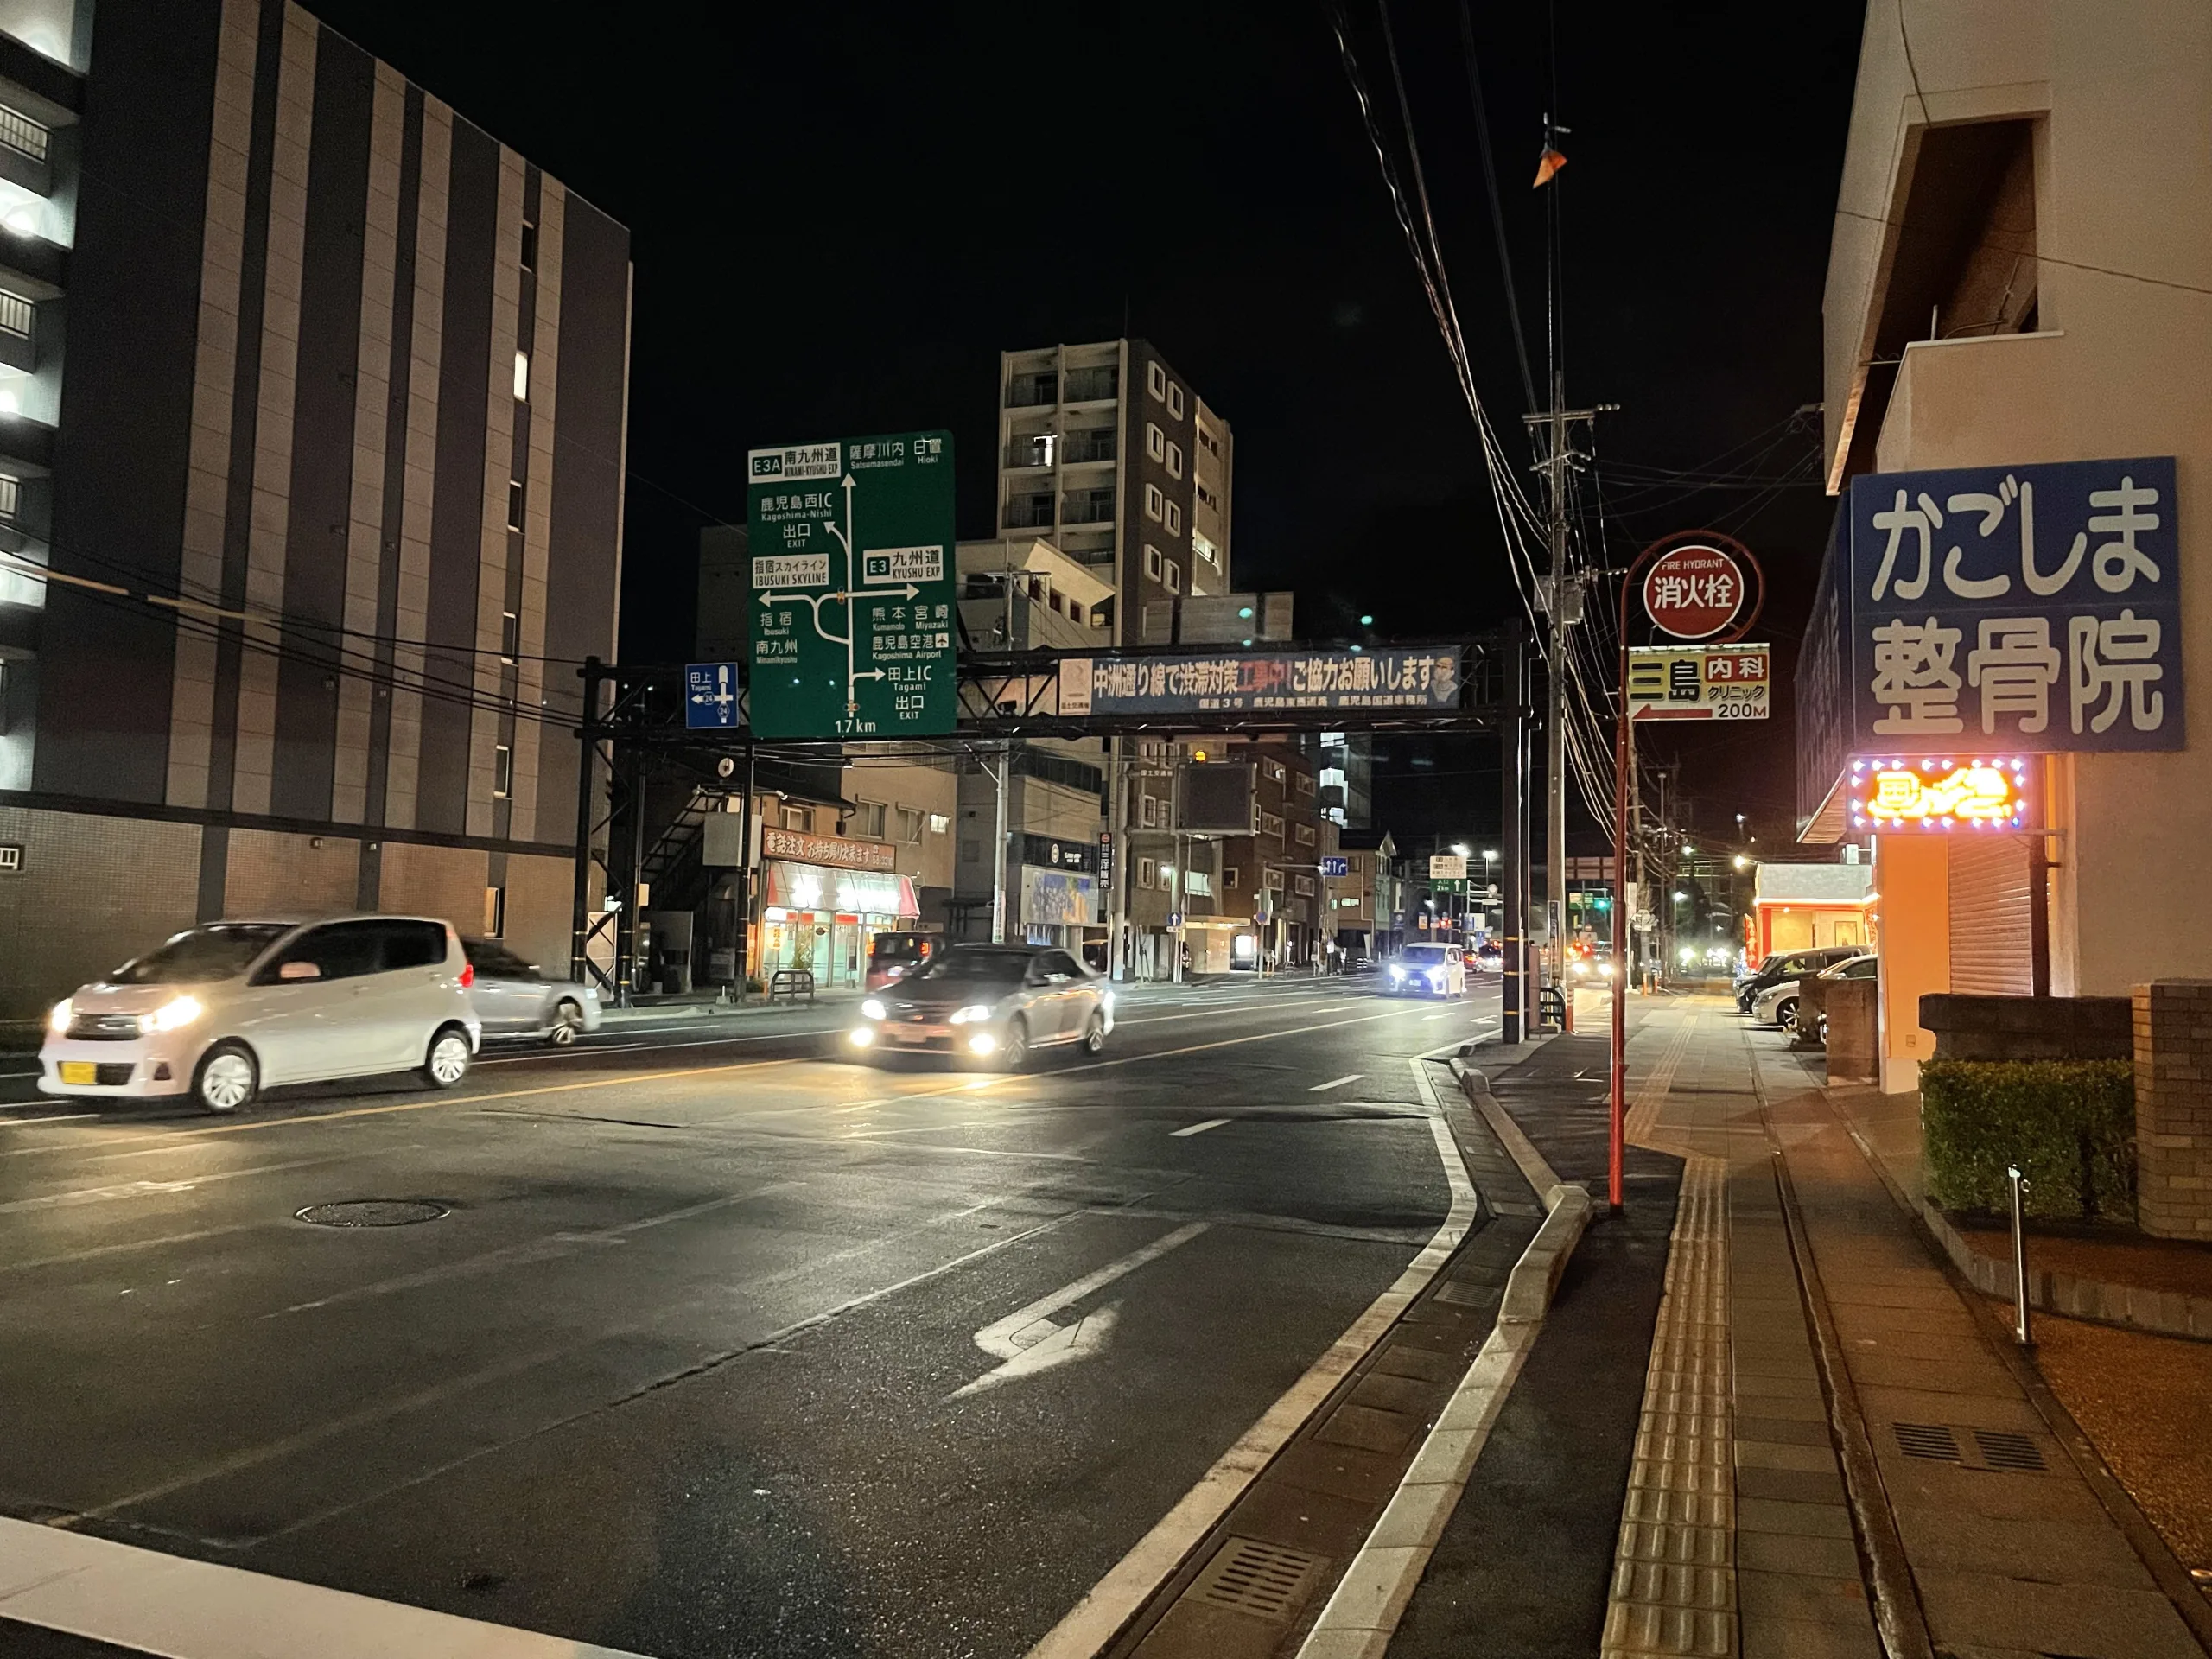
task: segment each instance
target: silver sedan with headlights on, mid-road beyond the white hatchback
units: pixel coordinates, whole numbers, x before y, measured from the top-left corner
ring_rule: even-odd
[[[1066,951],[951,945],[867,998],[847,1040],[869,1055],[971,1055],[1020,1071],[1031,1048],[1077,1044],[1095,1055],[1110,1031],[1113,991]]]

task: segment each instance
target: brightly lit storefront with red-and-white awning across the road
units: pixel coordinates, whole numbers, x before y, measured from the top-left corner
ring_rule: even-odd
[[[763,984],[807,969],[821,989],[858,987],[869,940],[920,920],[914,880],[889,869],[896,852],[880,841],[763,830],[761,852]]]

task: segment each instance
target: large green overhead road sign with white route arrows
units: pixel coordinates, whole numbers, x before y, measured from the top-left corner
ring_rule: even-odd
[[[951,434],[754,449],[745,462],[752,730],[951,732]]]

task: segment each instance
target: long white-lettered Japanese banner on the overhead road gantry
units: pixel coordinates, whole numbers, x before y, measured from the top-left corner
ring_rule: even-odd
[[[1261,708],[1460,706],[1460,653],[1212,650],[1064,657],[1062,714],[1192,714]]]

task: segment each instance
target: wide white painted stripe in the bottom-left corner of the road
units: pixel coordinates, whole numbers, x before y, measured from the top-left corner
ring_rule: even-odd
[[[241,1652],[635,1659],[566,1637],[0,1520],[0,1617],[170,1659]]]

